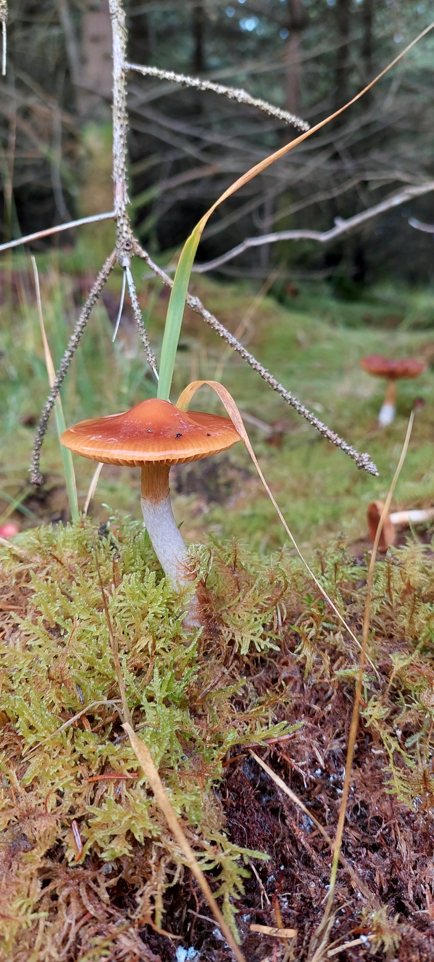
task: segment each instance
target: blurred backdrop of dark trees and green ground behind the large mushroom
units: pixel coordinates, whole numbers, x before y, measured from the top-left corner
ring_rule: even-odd
[[[426,26],[428,7],[394,0],[129,2],[129,58],[243,87],[312,126]],[[377,479],[358,472],[187,310],[174,391],[197,376],[223,379],[305,545],[340,532],[356,541],[364,537],[367,504],[387,491],[415,396],[426,403],[396,496],[403,507],[431,501],[432,235],[412,222],[434,221],[433,43],[428,34],[345,114],[227,200],[199,244],[191,291],[320,418],[369,449],[380,470]],[[0,79],[3,241],[112,210],[111,69],[107,0],[11,4],[8,70]],[[135,232],[172,272],[183,241],[218,194],[296,133],[291,124],[213,92],[133,71],[128,110]],[[280,240],[224,257],[245,238],[339,227],[340,218],[407,189],[423,192],[336,240]],[[53,425],[42,457],[44,487],[35,493],[28,484],[32,436],[46,394],[28,253],[38,258],[57,367],[114,234],[106,221],[3,255],[3,520],[28,526],[41,517],[69,517]],[[134,270],[158,356],[168,291],[140,265]],[[121,410],[154,390],[128,297],[111,344],[120,287],[116,268],[64,383],[67,423]],[[374,352],[419,357],[428,367],[417,382],[401,382],[396,422],[386,436],[375,422],[384,382],[360,369],[361,358]],[[82,505],[91,466],[80,459],[76,472]],[[94,515],[107,519],[104,504],[135,513],[138,484],[134,472],[104,468]],[[278,521],[243,451],[230,459],[222,455],[211,469],[180,469],[176,500],[193,541],[206,529],[248,536],[261,550],[281,544]]]

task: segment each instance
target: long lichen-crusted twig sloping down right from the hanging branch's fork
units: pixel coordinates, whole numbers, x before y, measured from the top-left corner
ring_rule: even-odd
[[[135,241],[134,252],[141,257],[143,261],[145,261],[147,266],[154,271],[157,277],[159,277],[160,280],[166,284],[166,287],[173,287],[173,281],[168,274],[166,274],[166,271],[152,261],[152,259],[149,257],[149,254],[143,250],[142,247],[140,247],[140,244],[137,241]],[[238,341],[237,338],[235,338],[234,335],[223,326],[223,324],[220,324],[220,321],[217,320],[217,317],[211,314],[210,311],[207,311],[198,297],[192,297],[191,294],[187,294],[187,304],[191,308],[191,311],[194,311],[195,314],[200,315],[202,319],[209,324],[213,331],[216,331],[223,341],[228,343],[234,351],[237,351],[238,354],[240,354],[240,356],[243,358],[243,361],[246,361],[246,363],[250,365],[250,367],[252,367],[257,374],[260,374],[261,377],[267,381],[267,384],[269,384],[269,387],[272,388],[273,391],[280,394],[287,404],[290,404],[291,407],[294,408],[294,411],[296,411],[297,414],[301,415],[302,418],[306,418],[306,420],[309,421],[309,424],[312,424],[312,426],[315,427],[317,431],[319,431],[319,433],[327,439],[327,441],[335,444],[336,447],[339,447],[342,451],[344,451],[348,457],[352,458],[358,468],[366,470],[368,474],[378,474],[378,470],[371,461],[369,454],[360,454],[359,451],[356,451],[354,447],[351,447],[350,444],[347,444],[342,438],[340,438],[338,434],[336,434],[334,431],[331,431],[326,424],[323,424],[319,418],[316,418],[315,415],[308,410],[308,408],[304,407],[304,404],[301,404],[300,401],[294,397],[294,394],[292,394],[290,391],[287,391],[282,384],[279,384],[276,378],[269,373],[267,367],[264,367],[259,361],[257,361],[256,358],[253,357],[253,354],[250,354],[243,344]]]

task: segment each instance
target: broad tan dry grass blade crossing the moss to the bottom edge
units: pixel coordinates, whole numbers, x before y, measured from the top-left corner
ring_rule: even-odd
[[[237,959],[237,962],[245,962],[243,952],[237,945],[229,926],[225,923],[223,919],[223,916],[218,908],[217,901],[213,896],[210,886],[208,885],[208,882],[205,878],[205,875],[197,864],[191,845],[184,834],[181,824],[179,823],[179,820],[175,815],[175,812],[173,811],[173,808],[168,800],[168,797],[166,796],[165,787],[157,771],[157,768],[154,765],[154,761],[149,751],[149,748],[144,745],[144,742],[142,742],[140,738],[138,738],[131,724],[128,724],[128,722],[126,722],[123,725],[123,727],[127,732],[131,745],[140,761],[141,768],[143,769],[143,772],[145,773],[146,778],[148,779],[148,782],[154,793],[155,799],[158,805],[160,806],[163,814],[165,815],[166,822],[170,830],[172,831],[179,845],[179,848],[181,848],[181,851],[183,852],[186,862],[189,868],[191,869],[191,872],[193,873],[197,884],[200,886],[203,892],[203,895],[205,896],[205,899],[207,899],[210,909],[217,921],[217,924],[221,929],[222,934],[224,935],[224,938],[226,939],[228,946],[232,949],[235,955],[235,958]]]

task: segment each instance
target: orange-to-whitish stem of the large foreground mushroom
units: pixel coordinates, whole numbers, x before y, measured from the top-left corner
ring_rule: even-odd
[[[141,511],[146,531],[157,558],[176,591],[191,585],[195,573],[191,570],[189,551],[173,518],[168,487],[169,465],[149,463],[141,467]],[[184,619],[186,627],[202,623],[196,593],[191,598]]]

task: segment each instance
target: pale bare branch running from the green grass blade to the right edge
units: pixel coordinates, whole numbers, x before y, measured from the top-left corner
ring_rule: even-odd
[[[221,254],[220,257],[214,258],[213,261],[193,265],[191,271],[194,271],[196,274],[202,274],[207,270],[215,270],[216,267],[232,261],[234,257],[238,257],[239,254],[243,254],[243,251],[248,250],[249,247],[261,247],[261,245],[265,243],[276,243],[277,241],[318,241],[319,243],[328,243],[329,241],[335,241],[336,238],[341,237],[342,234],[346,234],[354,227],[359,227],[360,224],[370,220],[371,217],[376,217],[385,211],[390,211],[391,208],[399,207],[400,204],[405,204],[405,202],[411,200],[412,197],[421,197],[422,194],[429,193],[430,190],[434,190],[434,181],[405,188],[399,193],[395,193],[392,197],[388,197],[387,200],[382,200],[379,204],[368,208],[367,211],[362,211],[361,214],[348,217],[347,220],[336,217],[335,226],[331,227],[328,231],[310,231],[306,229],[274,231],[273,234],[262,234],[257,238],[246,238],[245,241],[237,244],[232,250],[226,251],[226,254]],[[413,223],[412,227],[414,226],[415,224]]]

